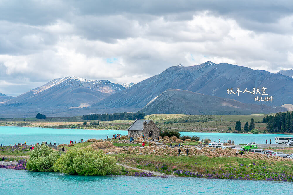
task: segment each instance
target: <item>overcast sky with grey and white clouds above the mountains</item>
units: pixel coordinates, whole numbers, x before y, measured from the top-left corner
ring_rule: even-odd
[[[0,0],[0,92],[59,77],[137,83],[205,61],[293,68],[293,1]]]

